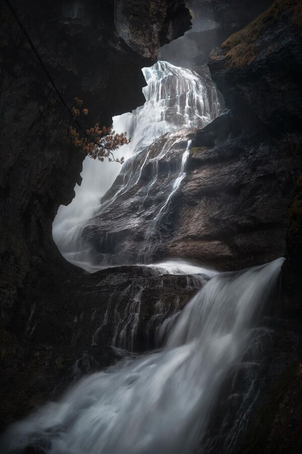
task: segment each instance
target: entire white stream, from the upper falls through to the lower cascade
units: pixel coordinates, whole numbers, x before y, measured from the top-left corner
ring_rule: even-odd
[[[143,213],[159,178],[161,159],[177,140],[183,141],[183,137],[176,138],[175,131],[202,128],[220,112],[216,88],[206,75],[166,62],[144,68],[143,74],[147,83],[143,89],[145,104],[114,119],[115,130],[126,130],[132,138],[122,149],[125,164],[120,168],[87,158],[82,186],[75,188],[73,202],[60,207],[54,221],[53,236],[62,254],[91,271],[100,266],[91,263],[89,247],[83,240],[87,220],[110,213],[122,194],[138,187],[145,165],[151,163],[152,179],[140,188],[143,194],[138,213]],[[153,155],[152,144],[163,135],[163,145]],[[223,380],[262,335],[259,320],[272,298],[283,259],[229,273],[180,261],[147,264],[152,261],[159,225],[184,182],[190,146],[187,139],[163,201],[155,207],[145,231],[138,260],[146,263],[143,266],[152,269],[154,276],[185,274],[187,288],[197,291],[196,295],[184,308],[177,294],[171,307],[159,299],[145,328],[146,338],[149,331],[156,333],[158,350],[136,358],[128,354],[115,366],[83,378],[60,401],[11,426],[0,442],[2,452],[13,454],[27,447],[26,452],[44,454],[191,454],[202,440]],[[134,350],[145,286],[146,279],[139,277],[129,282],[124,294],[117,288],[97,324],[96,313],[90,315],[95,326],[92,346],[98,345],[110,324],[111,345]],[[33,306],[26,338],[35,333],[35,316]],[[80,321],[75,319],[75,328],[81,324],[81,316]],[[71,344],[77,344],[77,329]],[[253,393],[252,388],[249,393]],[[241,427],[239,424],[238,431]],[[226,440],[229,446],[236,430]]]

